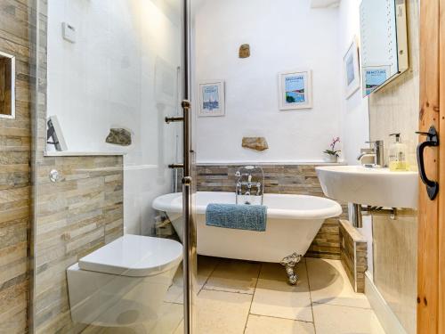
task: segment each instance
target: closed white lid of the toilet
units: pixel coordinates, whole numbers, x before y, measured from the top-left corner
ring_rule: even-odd
[[[80,269],[123,276],[151,276],[178,265],[182,244],[168,239],[125,234],[82,257]]]

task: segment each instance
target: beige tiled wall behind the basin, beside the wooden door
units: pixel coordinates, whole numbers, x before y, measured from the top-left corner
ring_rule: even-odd
[[[406,4],[409,70],[370,95],[369,126],[371,140],[384,140],[385,151],[393,141],[389,134],[400,132],[408,145],[411,168],[417,169],[419,0]],[[417,215],[413,211],[395,221],[373,215],[374,283],[409,334],[416,333]]]

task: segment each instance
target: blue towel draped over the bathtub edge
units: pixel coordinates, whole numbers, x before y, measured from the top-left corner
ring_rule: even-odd
[[[229,229],[266,231],[267,207],[263,205],[209,204],[206,225]]]

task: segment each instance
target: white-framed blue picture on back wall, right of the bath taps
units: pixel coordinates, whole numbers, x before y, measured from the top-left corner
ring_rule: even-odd
[[[312,70],[279,73],[279,110],[312,108]]]

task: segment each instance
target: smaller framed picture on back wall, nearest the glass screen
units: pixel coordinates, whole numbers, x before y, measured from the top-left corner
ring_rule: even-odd
[[[224,82],[223,80],[206,80],[198,86],[199,117],[224,116]]]

